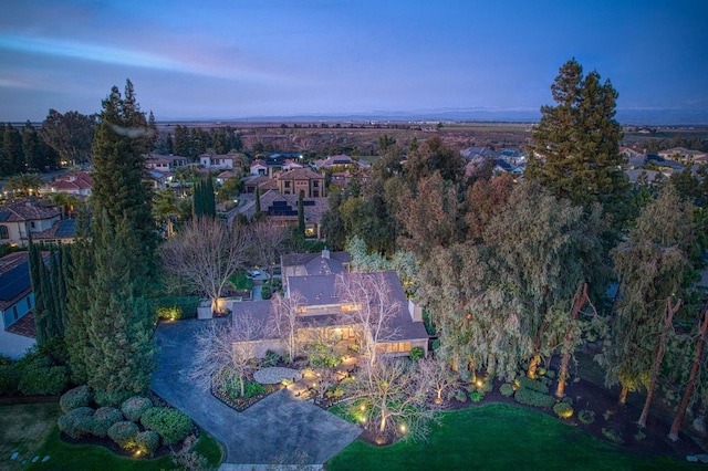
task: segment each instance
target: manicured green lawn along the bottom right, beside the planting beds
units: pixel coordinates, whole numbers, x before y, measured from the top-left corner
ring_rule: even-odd
[[[637,457],[544,414],[504,404],[442,412],[428,442],[361,440],[326,462],[339,470],[696,470],[669,457]],[[700,465],[698,465],[700,469]]]

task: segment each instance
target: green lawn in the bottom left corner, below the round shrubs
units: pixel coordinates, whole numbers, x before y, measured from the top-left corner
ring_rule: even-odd
[[[61,440],[56,419],[61,415],[59,405],[28,404],[0,407],[0,470],[168,470],[174,469],[169,456],[159,459],[131,459],[118,457],[104,447],[71,444]],[[212,468],[221,462],[221,447],[209,435],[202,432],[194,447],[209,460]],[[15,461],[10,454],[20,453]],[[49,456],[45,463],[38,461],[21,465],[22,460]]]

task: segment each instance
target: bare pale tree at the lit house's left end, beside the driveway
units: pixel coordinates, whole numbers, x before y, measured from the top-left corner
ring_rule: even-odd
[[[232,323],[212,321],[195,334],[195,358],[189,377],[209,390],[211,385],[238,385],[244,395],[244,379],[252,370],[254,342],[262,324],[250,313],[235,314]]]

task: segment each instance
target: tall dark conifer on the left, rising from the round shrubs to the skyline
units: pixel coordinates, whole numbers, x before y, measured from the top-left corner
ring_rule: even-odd
[[[107,402],[144,393],[154,368],[147,295],[155,287],[157,231],[152,191],[143,182],[149,145],[145,114],[131,81],[103,101],[93,146],[90,239],[80,238],[69,336],[75,376]]]

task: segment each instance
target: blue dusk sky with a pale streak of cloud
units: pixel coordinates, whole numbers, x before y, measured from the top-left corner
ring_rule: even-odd
[[[576,57],[620,109],[708,111],[708,1],[0,1],[0,121],[538,111]]]

